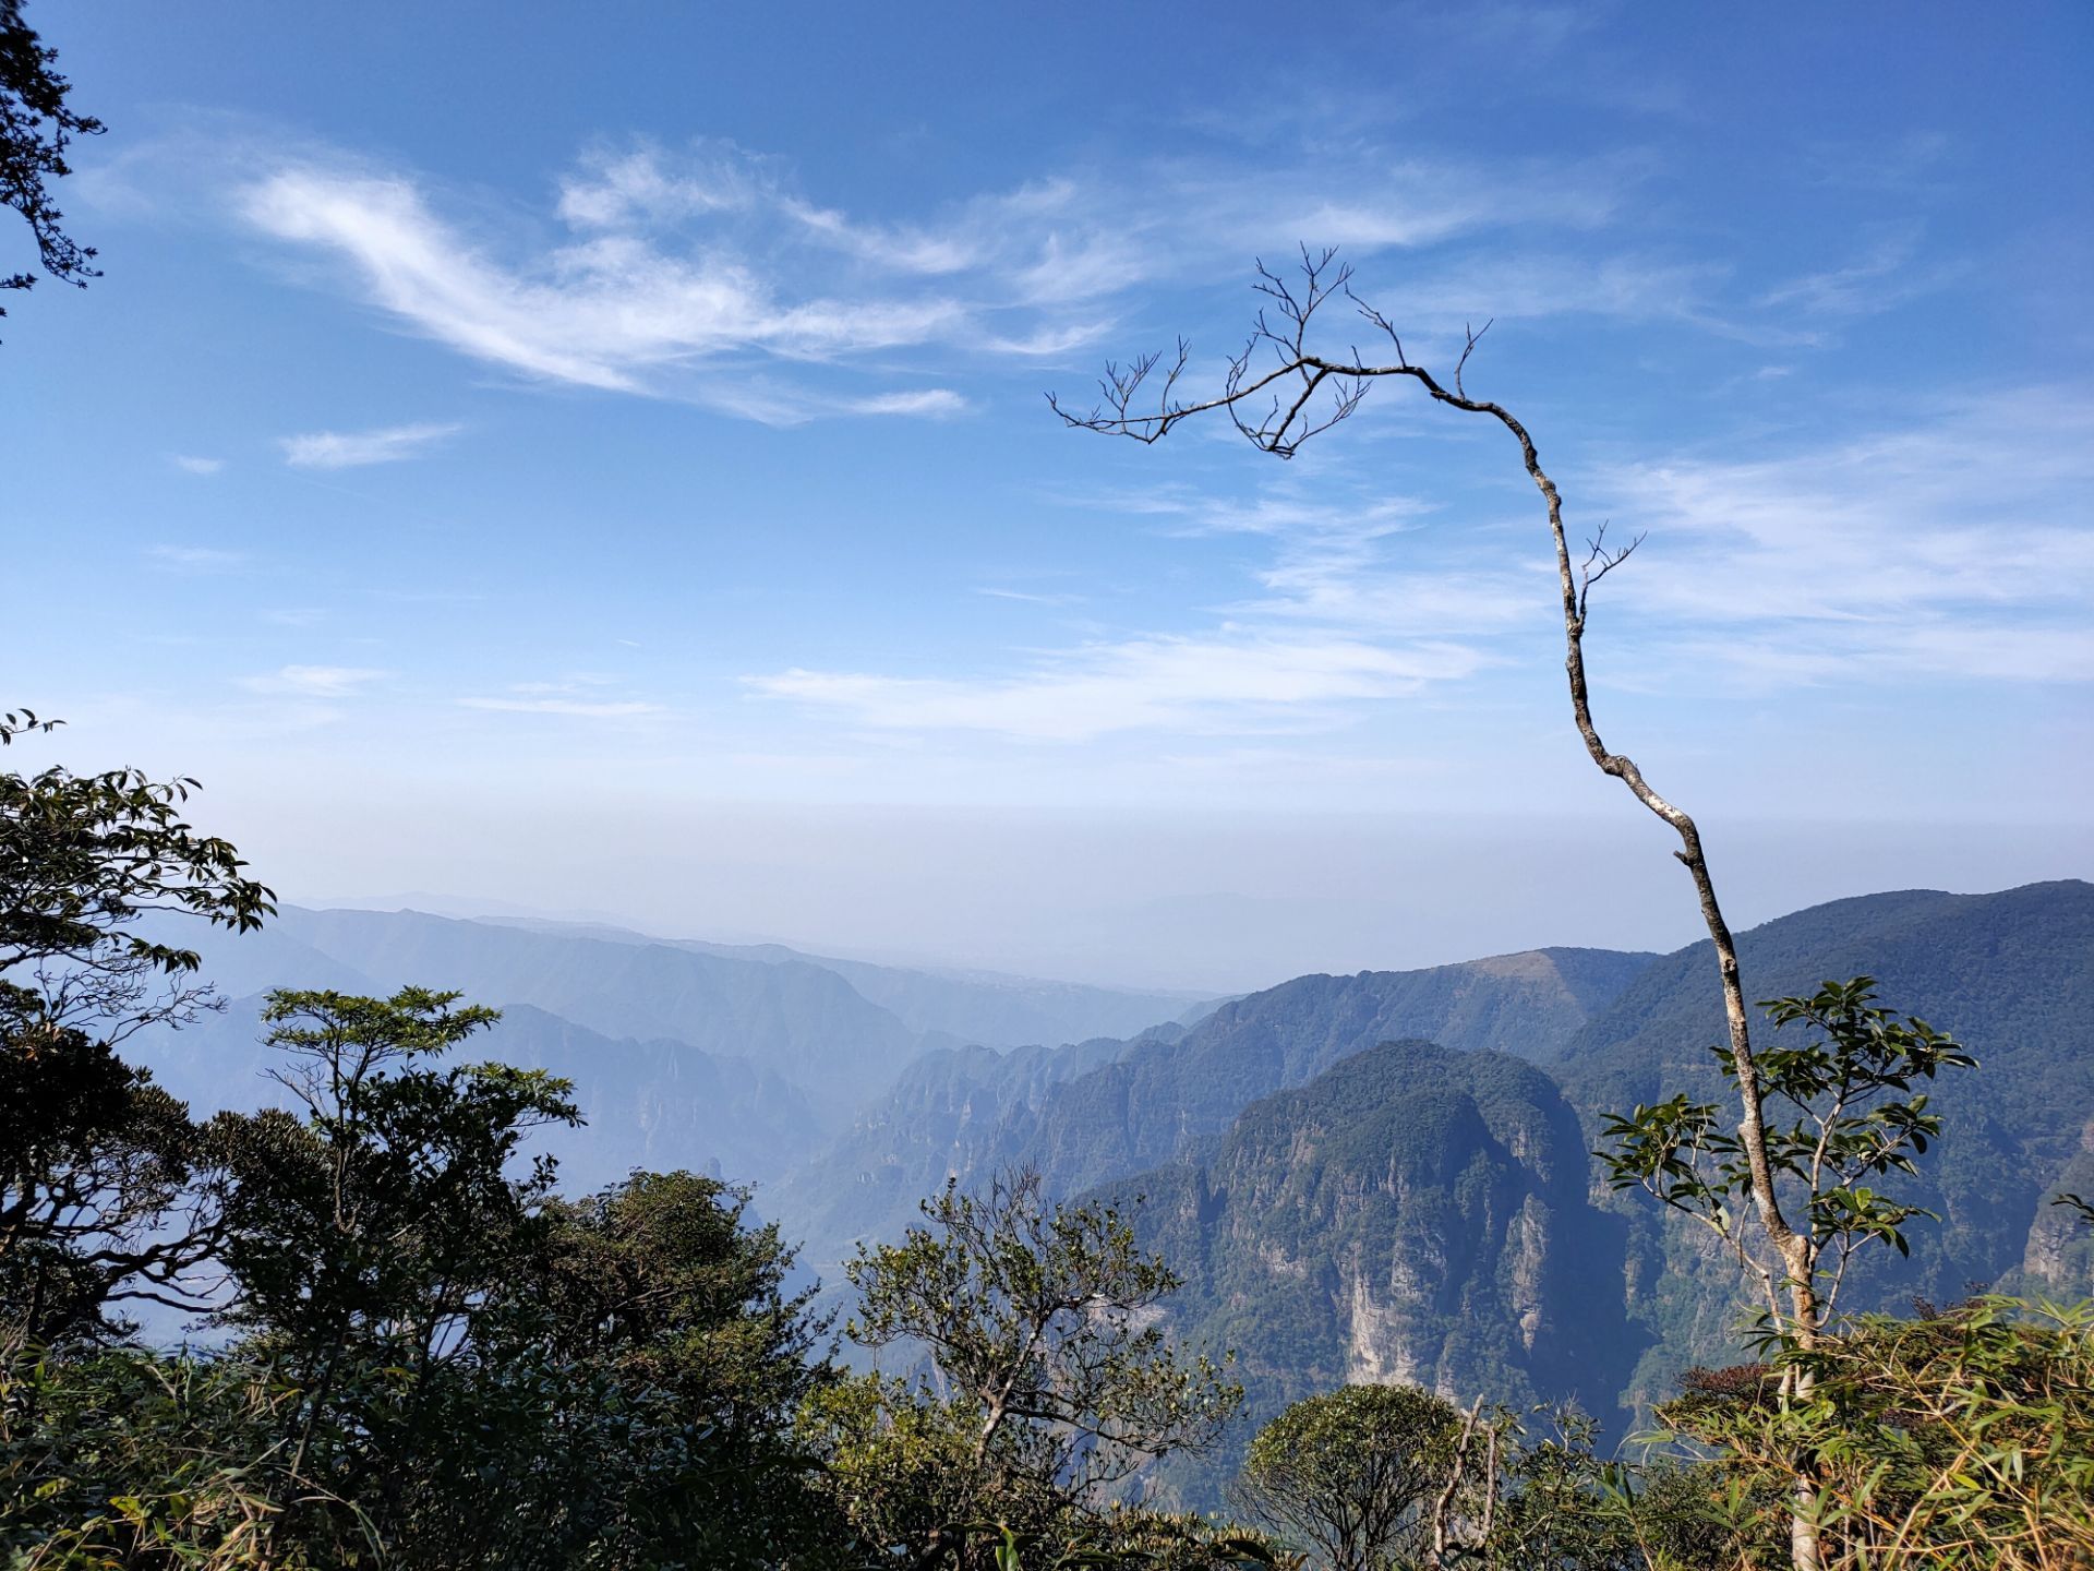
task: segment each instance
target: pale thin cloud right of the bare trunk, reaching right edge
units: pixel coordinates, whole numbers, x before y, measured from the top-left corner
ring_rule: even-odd
[[[2094,679],[2094,400],[2002,392],[1757,461],[1596,475],[1650,540],[1608,599],[1778,677]]]

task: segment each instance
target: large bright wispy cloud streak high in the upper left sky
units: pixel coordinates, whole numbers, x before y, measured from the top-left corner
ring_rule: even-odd
[[[718,371],[842,362],[961,346],[1068,354],[1101,308],[1164,274],[1238,270],[1313,239],[1372,253],[1501,224],[1589,228],[1640,178],[1635,159],[1455,159],[1355,149],[1277,168],[1152,161],[1055,174],[869,222],[802,195],[779,159],[731,142],[597,149],[561,182],[551,245],[500,243],[446,216],[425,184],[304,157],[241,186],[241,218],[346,264],[364,300],[410,331],[534,379],[697,396],[756,419],[951,415],[951,390],[756,390]],[[519,224],[521,228],[521,224]],[[1617,285],[1617,293],[1633,281]],[[712,371],[712,379],[695,373]]]

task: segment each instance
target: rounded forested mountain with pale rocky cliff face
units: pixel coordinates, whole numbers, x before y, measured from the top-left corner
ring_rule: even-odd
[[[1506,1054],[1369,1047],[1244,1108],[1208,1160],[1104,1194],[1143,1196],[1143,1244],[1187,1276],[1175,1332],[1235,1349],[1238,1441],[1349,1380],[1606,1412],[1638,1351],[1627,1227],[1589,1202],[1554,1081]],[[1181,1481],[1206,1500],[1231,1466]]]

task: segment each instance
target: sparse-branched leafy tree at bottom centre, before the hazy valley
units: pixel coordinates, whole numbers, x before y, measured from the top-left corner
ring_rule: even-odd
[[[1135,1473],[1210,1447],[1242,1401],[1156,1324],[1181,1282],[1112,1207],[1047,1204],[1037,1173],[949,1181],[923,1227],[846,1267],[850,1334],[913,1349],[919,1382],[869,1376],[812,1414],[854,1525],[921,1567],[986,1565],[972,1527],[1093,1535]]]

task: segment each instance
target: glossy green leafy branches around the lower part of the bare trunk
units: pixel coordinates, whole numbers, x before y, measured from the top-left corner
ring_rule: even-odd
[[[1883,1242],[1910,1253],[1906,1223],[1931,1211],[1870,1188],[1870,1179],[1916,1173],[1916,1156],[1941,1133],[1941,1116],[1916,1087],[1943,1068],[1977,1060],[1924,1020],[1874,1005],[1874,978],[1826,982],[1811,997],[1772,999],[1776,1031],[1813,1028],[1803,1045],[1763,1045],[1755,1054],[1757,1091],[1765,1106],[1786,1104],[1769,1119],[1765,1158],[1784,1211],[1803,1240],[1803,1286],[1830,1313],[1855,1248]],[[1711,1049],[1725,1077],[1738,1066],[1723,1047]],[[1711,1225],[1753,1263],[1744,1215],[1751,1213],[1751,1152],[1740,1133],[1721,1125],[1717,1104],[1686,1091],[1627,1116],[1608,1116],[1608,1150],[1598,1152],[1608,1181],[1644,1188],[1675,1211]],[[1769,1313],[1782,1305],[1772,1288],[1786,1284],[1786,1263],[1757,1261],[1769,1286]],[[1801,1334],[1815,1324],[1801,1326]]]

